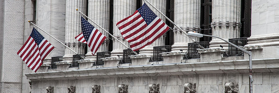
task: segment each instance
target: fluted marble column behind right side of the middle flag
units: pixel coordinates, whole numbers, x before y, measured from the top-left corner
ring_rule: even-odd
[[[97,24],[102,26],[107,31],[109,28],[109,0],[89,0],[88,1],[88,17],[95,21]],[[93,22],[89,21],[93,26],[95,26],[99,31],[101,31],[105,36],[109,36],[108,33],[100,29]],[[108,38],[102,43],[97,52],[108,51]],[[93,56],[89,48],[87,48],[87,53],[85,60],[96,61],[96,54]]]

